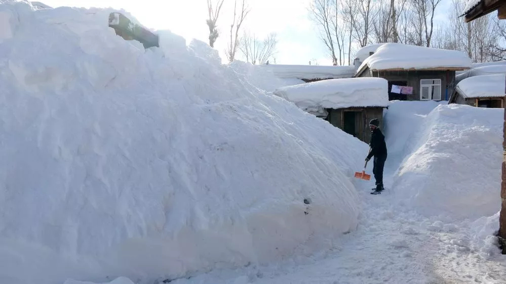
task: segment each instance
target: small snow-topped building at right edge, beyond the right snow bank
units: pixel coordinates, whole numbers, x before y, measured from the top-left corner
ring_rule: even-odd
[[[481,108],[504,107],[504,74],[480,75],[465,78],[455,87],[448,104]]]

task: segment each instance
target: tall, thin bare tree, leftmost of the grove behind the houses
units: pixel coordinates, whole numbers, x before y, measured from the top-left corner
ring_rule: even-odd
[[[309,8],[313,21],[321,31],[320,38],[327,46],[332,57],[333,65],[337,65],[337,57],[334,49],[334,40],[332,36],[332,5],[330,0],[314,0]]]

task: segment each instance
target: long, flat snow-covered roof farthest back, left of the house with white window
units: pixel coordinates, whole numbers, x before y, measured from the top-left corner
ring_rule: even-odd
[[[351,78],[355,75],[354,66],[266,64],[262,67],[270,69],[279,78],[314,80]]]

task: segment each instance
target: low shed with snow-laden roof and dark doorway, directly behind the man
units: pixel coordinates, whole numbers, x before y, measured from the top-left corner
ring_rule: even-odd
[[[281,87],[274,94],[369,143],[369,121],[383,124],[387,87],[382,78],[342,78]]]

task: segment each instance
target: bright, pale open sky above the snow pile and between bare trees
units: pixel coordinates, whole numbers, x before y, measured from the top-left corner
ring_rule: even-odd
[[[213,0],[216,1],[216,0]],[[315,25],[308,17],[307,8],[312,0],[249,0],[251,12],[244,28],[262,37],[278,33],[278,64],[308,64],[317,60],[320,65],[331,65],[324,44]],[[144,26],[168,29],[186,38],[208,41],[206,0],[43,0],[52,7],[112,7],[131,13]],[[436,21],[446,21],[451,0],[443,0],[438,7]],[[225,7],[226,6],[226,7]],[[223,50],[229,40],[229,25],[233,17],[233,1],[225,0],[223,13],[218,19],[221,35],[215,48],[226,58]]]

